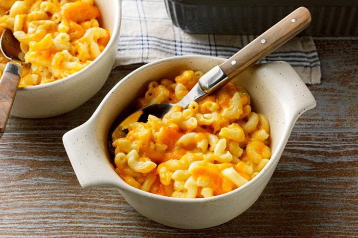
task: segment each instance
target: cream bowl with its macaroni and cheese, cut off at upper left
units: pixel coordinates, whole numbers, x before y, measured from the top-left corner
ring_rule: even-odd
[[[103,86],[119,39],[118,0],[20,0],[0,4],[0,30],[11,29],[27,64],[11,115],[69,112]],[[3,6],[4,5],[4,6]],[[0,72],[7,60],[0,56]]]

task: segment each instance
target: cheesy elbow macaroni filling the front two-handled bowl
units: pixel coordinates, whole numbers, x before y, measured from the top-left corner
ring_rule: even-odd
[[[138,108],[175,103],[203,73],[184,71],[175,81],[151,82]],[[163,119],[128,125],[113,133],[115,168],[128,184],[147,192],[180,198],[203,198],[230,192],[255,177],[269,162],[270,125],[252,112],[250,95],[227,84],[213,95],[173,107]]]

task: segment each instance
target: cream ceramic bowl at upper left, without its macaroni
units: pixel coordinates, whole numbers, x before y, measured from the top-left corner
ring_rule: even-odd
[[[120,0],[95,0],[102,16],[102,27],[110,31],[110,40],[91,64],[61,80],[19,88],[11,115],[44,118],[69,112],[93,97],[104,85],[115,62],[121,24]]]

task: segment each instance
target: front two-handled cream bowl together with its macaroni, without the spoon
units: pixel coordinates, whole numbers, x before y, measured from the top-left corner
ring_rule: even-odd
[[[189,123],[186,123],[186,120],[181,120],[183,116],[196,115],[197,118],[194,116],[196,121],[207,120],[205,123],[209,124],[212,119],[210,115],[217,112],[215,111],[217,107],[215,103],[219,104],[213,96],[209,96],[202,101],[192,103],[188,108],[189,111],[174,108],[168,114],[170,115],[170,120],[167,121],[169,125],[163,127],[165,128],[163,130],[166,130],[163,135],[158,133],[160,129],[154,128],[161,124],[155,118],[150,119],[153,123],[131,125],[138,126],[138,128],[133,127],[135,129],[133,133],[128,133],[128,136],[132,138],[115,140],[115,143],[122,145],[120,146],[122,149],[117,149],[117,154],[120,155],[115,158],[115,166],[110,161],[111,158],[107,149],[107,136],[111,125],[118,115],[125,114],[126,108],[133,105],[133,102],[138,99],[138,95],[143,95],[148,90],[148,84],[149,92],[147,97],[140,100],[140,105],[158,100],[158,97],[155,97],[158,95],[155,94],[158,94],[159,91],[162,92],[159,93],[163,96],[162,99],[175,101],[182,96],[181,92],[184,92],[185,89],[178,86],[177,82],[174,83],[175,86],[170,86],[166,80],[161,82],[161,78],[175,78],[175,76],[181,75],[183,69],[192,70],[189,74],[194,74],[193,77],[195,78],[195,75],[200,75],[198,71],[205,73],[223,61],[225,59],[208,56],[171,57],[144,65],[124,77],[105,96],[87,122],[63,136],[65,150],[81,186],[83,188],[115,187],[139,213],[153,221],[177,228],[199,229],[216,226],[237,217],[248,209],[269,182],[295,121],[303,112],[314,108],[316,105],[316,101],[306,85],[295,70],[285,62],[255,65],[234,78],[232,84],[227,85],[221,92],[219,91],[216,99],[220,98],[218,102],[221,102],[224,108],[236,107],[237,102],[239,104],[241,102],[243,107],[240,115],[234,115],[232,119],[217,127],[202,124],[199,126],[201,128],[196,127],[196,129],[189,130],[191,129],[190,126],[193,126],[192,122],[189,120]],[[191,80],[184,79],[182,78],[183,85],[191,83]],[[152,81],[159,81],[159,84],[150,83]],[[173,91],[165,92],[160,84],[167,90],[171,88]],[[183,90],[175,92],[176,86],[182,87]],[[152,88],[159,90],[152,90]],[[238,97],[240,100],[237,100]],[[235,101],[235,103],[230,101]],[[203,107],[205,103],[207,104]],[[251,111],[248,110],[249,105],[252,108]],[[198,110],[199,113],[193,113],[191,110]],[[199,114],[209,114],[206,110],[211,110],[212,113],[201,118]],[[231,113],[229,113],[231,111],[235,110],[228,110],[226,112],[228,114],[223,113],[223,111],[220,112],[226,116],[231,116]],[[251,112],[255,112],[257,117]],[[249,114],[249,116],[245,114]],[[250,114],[252,119],[256,118],[259,121],[253,123],[254,126],[251,126],[250,123],[247,124],[250,121]],[[264,115],[267,121],[260,115]],[[125,116],[123,115],[123,117]],[[175,125],[174,123],[171,124],[176,119],[178,120]],[[163,119],[163,123],[166,123],[164,121],[165,119]],[[270,127],[267,127],[267,122]],[[258,125],[259,123],[261,125]],[[183,127],[180,132],[185,131],[185,135],[176,133],[177,126]],[[96,134],[93,133],[93,128],[96,128]],[[136,139],[141,140],[147,136],[152,136],[146,133],[148,128],[157,133],[155,136],[159,140],[158,142],[166,143],[157,142],[158,144],[147,143],[146,145],[137,142],[130,143],[133,139],[135,139],[133,141],[136,141]],[[246,134],[250,135],[247,138],[249,140],[246,139],[245,131],[242,134],[239,128],[245,128],[243,130],[246,130]],[[269,128],[270,131],[268,132]],[[231,133],[231,131],[235,132]],[[241,136],[245,136],[245,138]],[[267,146],[268,136],[270,136],[271,157],[267,149],[270,148]],[[205,138],[208,138],[208,140],[206,141]],[[223,140],[224,138],[226,138],[226,142]],[[126,139],[129,139],[129,142]],[[238,142],[239,146],[236,146],[235,140],[240,141]],[[231,146],[230,141],[233,143]],[[264,161],[265,165],[262,165],[261,168],[255,168],[260,164],[258,157],[245,158],[244,156],[244,153],[248,153],[247,147],[253,141],[256,141],[253,148],[261,147],[261,152],[263,152],[261,153],[261,161]],[[245,148],[243,143],[247,142],[248,145]],[[210,143],[213,148],[211,148]],[[175,144],[180,147],[177,147],[178,150],[168,149],[170,146],[175,147]],[[142,149],[138,149],[139,145],[142,146]],[[245,151],[243,149],[241,151],[240,148],[245,148]],[[139,152],[137,152],[137,149]],[[184,149],[184,152],[181,149]],[[174,152],[163,154],[165,150]],[[191,152],[188,152],[188,150]],[[257,151],[260,151],[260,149]],[[164,166],[161,166],[162,163],[159,163],[158,166],[146,158],[139,160],[137,153],[138,155],[145,153],[146,157],[155,157],[157,158],[156,162],[162,162]],[[181,156],[181,153],[184,153],[184,155]],[[183,161],[173,160],[177,157],[184,159]],[[269,157],[270,159],[267,160]],[[191,163],[185,163],[185,161]],[[255,166],[251,167],[250,162]],[[230,163],[232,165],[229,165]],[[185,165],[185,168],[181,168],[181,165]],[[191,175],[186,172],[188,165],[188,172],[191,172]],[[130,171],[128,169],[130,166],[135,169]],[[155,178],[155,173],[150,174],[157,166],[160,170],[158,174],[162,176],[159,179]],[[143,171],[141,171],[142,169]],[[251,169],[257,169],[257,171],[251,171]],[[121,176],[118,175],[116,170],[120,172]],[[217,171],[221,172],[218,173]],[[222,173],[222,171],[225,172]],[[122,173],[127,174],[123,176]],[[146,173],[150,176],[142,176]],[[199,178],[200,176],[202,177]],[[235,184],[235,177],[238,178],[236,180],[238,184]],[[131,178],[135,178],[136,181],[131,180]],[[151,186],[147,186],[151,182],[150,179],[153,179],[154,182]],[[161,179],[166,183],[173,184],[173,186],[161,186],[159,184]],[[210,188],[208,186],[210,179],[216,179],[216,182],[212,182],[213,184],[223,184],[223,182],[217,181],[226,180],[225,186]],[[176,182],[174,186],[175,180],[179,182]],[[177,187],[176,190],[175,187]],[[200,189],[198,189],[199,187]],[[148,188],[149,192],[146,191]],[[150,193],[151,188],[153,188],[152,192],[154,193]],[[163,196],[173,194],[175,191],[177,196]],[[189,193],[191,196],[188,196]]]

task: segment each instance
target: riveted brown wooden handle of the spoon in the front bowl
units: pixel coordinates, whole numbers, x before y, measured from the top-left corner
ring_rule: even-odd
[[[300,7],[222,63],[221,70],[233,78],[304,30],[311,21],[308,9]]]

